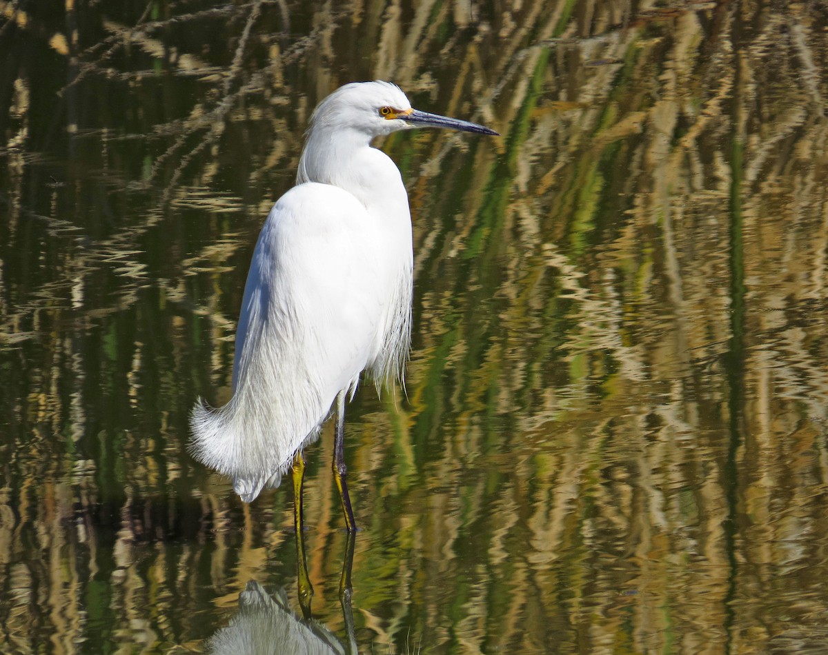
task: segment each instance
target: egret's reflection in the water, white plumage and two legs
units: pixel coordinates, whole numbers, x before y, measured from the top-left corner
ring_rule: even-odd
[[[238,595],[238,614],[226,628],[209,639],[211,655],[277,655],[277,653],[357,653],[354,614],[351,609],[351,567],[354,563],[354,533],[348,535],[339,601],[342,605],[347,639],[339,638],[315,621],[310,611],[313,587],[305,560],[305,538],[296,533],[296,566],[299,604],[302,616],[291,611],[285,590],[265,590],[257,581],[249,581]]]

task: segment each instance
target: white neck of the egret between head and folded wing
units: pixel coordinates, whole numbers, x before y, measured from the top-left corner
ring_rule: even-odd
[[[379,198],[407,196],[402,177],[392,160],[371,147],[363,132],[337,130],[311,131],[299,159],[296,184],[332,184],[353,194],[372,210]],[[402,194],[402,196],[400,195]]]

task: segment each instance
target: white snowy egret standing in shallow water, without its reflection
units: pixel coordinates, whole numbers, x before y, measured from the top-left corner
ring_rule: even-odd
[[[245,502],[293,471],[301,528],[302,449],[336,401],[333,471],[345,524],[345,401],[362,371],[402,379],[411,337],[412,223],[402,176],[371,147],[412,127],[497,135],[488,127],[412,109],[388,82],[345,84],[310,117],[296,186],[262,227],[236,332],[233,397],[195,405],[191,451],[230,476]]]

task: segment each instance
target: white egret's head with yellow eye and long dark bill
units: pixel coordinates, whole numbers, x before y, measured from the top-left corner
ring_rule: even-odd
[[[379,81],[339,87],[316,108],[311,130],[317,126],[357,130],[369,137],[413,127],[442,127],[498,136],[498,132],[473,122],[414,109],[396,84]]]

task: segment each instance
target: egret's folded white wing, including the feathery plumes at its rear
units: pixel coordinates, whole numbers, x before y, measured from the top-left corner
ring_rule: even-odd
[[[194,452],[244,500],[277,483],[355,385],[386,312],[371,217],[351,194],[291,189],[262,227],[244,290],[233,399],[196,409]]]

